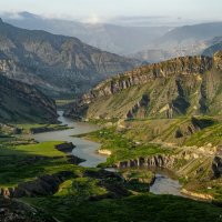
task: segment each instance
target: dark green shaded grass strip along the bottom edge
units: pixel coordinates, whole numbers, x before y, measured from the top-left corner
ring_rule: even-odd
[[[89,186],[88,186],[89,189]],[[84,200],[83,188],[77,196],[62,195],[26,199],[33,205],[47,210],[62,222],[103,222],[103,221],[152,221],[152,222],[209,222],[221,221],[221,209],[172,195],[140,194],[123,199]],[[91,188],[90,188],[91,189]],[[84,201],[79,201],[80,199]]]

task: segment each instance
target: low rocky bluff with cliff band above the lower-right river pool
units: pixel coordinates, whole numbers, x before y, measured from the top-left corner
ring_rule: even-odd
[[[202,149],[202,150],[201,150]],[[216,151],[204,148],[189,150],[189,148],[176,154],[159,154],[141,157],[138,159],[120,161],[117,168],[163,168],[173,171],[179,176],[190,179],[218,179],[222,175],[222,159]],[[205,174],[203,175],[203,169]]]

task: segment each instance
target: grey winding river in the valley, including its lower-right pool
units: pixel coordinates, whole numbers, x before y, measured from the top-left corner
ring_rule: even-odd
[[[64,118],[62,111],[59,111],[59,121],[61,124],[67,124],[72,128],[69,130],[53,131],[53,132],[43,132],[33,134],[34,140],[38,142],[46,141],[67,141],[72,142],[77,145],[72,154],[84,159],[85,162],[80,163],[82,167],[94,168],[99,163],[105,162],[107,157],[101,155],[97,152],[100,148],[99,143],[74,138],[73,135],[82,134],[99,130],[99,127],[85,122],[74,122],[72,119]],[[155,169],[155,182],[151,185],[150,191],[155,194],[173,194],[182,195],[181,185],[178,180],[175,180],[168,171]]]

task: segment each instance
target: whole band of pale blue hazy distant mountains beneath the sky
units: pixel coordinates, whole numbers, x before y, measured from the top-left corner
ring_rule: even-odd
[[[144,26],[117,26],[109,23],[82,23],[49,19],[29,12],[2,14],[4,20],[24,29],[46,30],[56,34],[77,37],[101,50],[159,62],[174,57],[201,54],[211,47],[215,37],[222,36],[222,22],[209,22],[182,27],[144,23]],[[122,18],[124,21],[124,18]],[[168,18],[167,18],[168,19]],[[179,23],[176,23],[179,26]]]

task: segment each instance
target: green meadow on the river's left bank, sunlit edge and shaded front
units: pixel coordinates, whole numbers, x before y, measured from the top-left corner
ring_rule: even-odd
[[[60,171],[75,171],[64,153],[54,149],[61,142],[11,145],[7,140],[0,147],[0,186],[16,186],[39,175]]]

